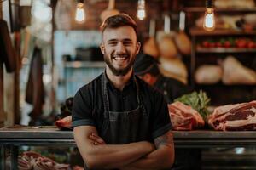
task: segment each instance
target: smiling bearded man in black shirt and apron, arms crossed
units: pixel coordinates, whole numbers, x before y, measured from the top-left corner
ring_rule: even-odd
[[[164,97],[134,76],[141,44],[127,14],[101,26],[106,70],[80,88],[73,100],[73,133],[85,168],[172,167],[172,124]]]

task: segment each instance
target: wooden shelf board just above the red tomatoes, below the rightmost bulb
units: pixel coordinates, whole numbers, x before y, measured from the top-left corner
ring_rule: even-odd
[[[236,30],[214,30],[205,31],[199,28],[190,29],[191,36],[236,36],[236,35],[256,35],[256,31],[236,31]]]

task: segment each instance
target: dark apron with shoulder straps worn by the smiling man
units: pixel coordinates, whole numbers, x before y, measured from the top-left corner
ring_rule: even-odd
[[[136,82],[137,108],[131,111],[109,111],[108,90],[106,86],[106,75],[102,78],[104,120],[102,124],[101,137],[107,144],[129,144],[132,142],[148,140],[149,118]],[[118,103],[115,105],[119,105]]]

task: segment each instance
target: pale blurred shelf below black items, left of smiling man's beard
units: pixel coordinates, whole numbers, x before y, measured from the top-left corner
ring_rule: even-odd
[[[104,61],[66,61],[64,62],[65,68],[104,68]]]

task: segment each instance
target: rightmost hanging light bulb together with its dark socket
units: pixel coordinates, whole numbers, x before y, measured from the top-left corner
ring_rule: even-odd
[[[212,8],[212,0],[207,0],[203,27],[206,31],[212,31],[215,28],[214,9]]]

